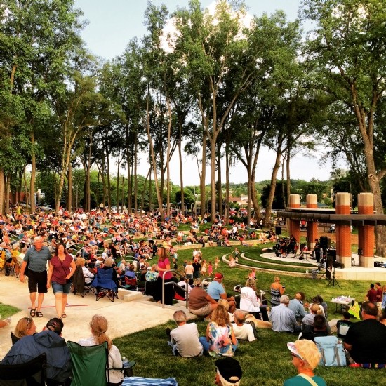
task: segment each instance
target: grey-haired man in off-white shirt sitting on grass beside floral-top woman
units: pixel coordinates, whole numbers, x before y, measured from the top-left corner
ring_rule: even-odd
[[[187,324],[187,316],[184,311],[175,311],[173,319],[178,325],[174,330],[166,328],[168,345],[173,347],[173,354],[181,357],[198,357],[203,353],[203,347],[199,342],[199,331],[197,324]]]

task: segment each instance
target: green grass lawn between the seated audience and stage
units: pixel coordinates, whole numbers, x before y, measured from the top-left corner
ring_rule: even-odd
[[[267,246],[269,244],[266,244]],[[265,246],[243,247],[238,246],[240,253],[246,252],[248,257],[259,256],[261,248]],[[218,272],[225,275],[224,284],[229,293],[237,284],[244,284],[249,270],[241,268],[229,268],[222,262],[222,255],[234,251],[234,247],[202,248],[203,258],[211,261],[214,266],[215,257],[220,258]],[[178,266],[182,268],[184,260],[192,260],[192,250],[178,251]],[[246,260],[239,260],[240,262]],[[155,260],[154,260],[155,262]],[[257,272],[258,289],[267,290],[274,280],[274,274]],[[319,275],[320,276],[320,275]],[[286,286],[286,293],[293,297],[296,291],[303,291],[308,300],[314,295],[320,294],[328,304],[328,319],[338,318],[341,314],[335,313],[335,305],[331,298],[338,295],[350,295],[357,300],[364,300],[364,295],[369,288],[367,281],[339,280],[340,287],[327,286],[326,279],[312,280],[308,278],[282,275],[281,283]],[[11,307],[0,305],[2,317],[8,317],[13,312]],[[135,320],[133,323],[141,323]],[[119,321],[117,321],[119,324]],[[206,322],[197,321],[200,335],[204,335]],[[129,360],[137,361],[134,375],[149,378],[174,377],[181,386],[213,385],[215,378],[215,359],[212,357],[199,357],[184,359],[173,357],[171,347],[166,344],[166,327],[174,328],[170,321],[155,328],[126,335],[114,340],[119,347],[122,356]],[[240,342],[235,358],[240,361],[244,375],[241,380],[243,386],[256,385],[282,385],[286,378],[296,375],[295,368],[291,364],[291,354],[286,347],[288,341],[295,341],[295,335],[274,333],[270,330],[259,330],[259,338],[255,342]],[[326,380],[327,385],[382,385],[385,382],[385,370],[364,370],[361,368],[317,368],[317,375]]]

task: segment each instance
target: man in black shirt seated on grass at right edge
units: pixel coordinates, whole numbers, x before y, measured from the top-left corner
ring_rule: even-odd
[[[364,320],[350,326],[343,345],[357,364],[386,364],[386,326],[377,320],[378,307],[364,302],[361,314]]]

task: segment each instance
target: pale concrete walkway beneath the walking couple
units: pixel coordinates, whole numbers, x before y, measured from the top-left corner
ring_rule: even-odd
[[[102,314],[109,321],[107,334],[114,339],[120,336],[152,328],[173,319],[175,310],[185,310],[185,302],[177,305],[162,308],[154,302],[146,300],[143,296],[133,301],[124,301],[123,296],[110,302],[107,298],[95,301],[95,295],[88,293],[84,298],[81,295],[69,293],[68,305],[66,308],[67,318],[63,319],[65,324],[62,337],[65,340],[77,342],[81,338],[88,338],[91,335],[89,322],[94,314]],[[19,319],[29,317],[31,303],[27,283],[21,283],[15,277],[6,277],[0,274],[0,302],[4,305],[12,305],[20,308],[20,312],[14,314],[10,326],[0,328],[0,359],[2,359],[11,348],[10,332],[15,329]],[[56,317],[55,296],[52,288],[45,295],[42,318],[34,317],[36,331],[39,332],[46,325],[47,321]],[[189,319],[194,315],[188,314]]]

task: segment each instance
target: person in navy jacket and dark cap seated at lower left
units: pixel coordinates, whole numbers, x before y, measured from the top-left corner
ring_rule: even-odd
[[[46,353],[47,378],[56,382],[67,382],[72,375],[72,364],[66,342],[61,336],[62,329],[62,319],[50,319],[41,333],[24,336],[15,342],[1,364],[25,364]]]

